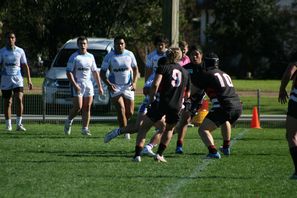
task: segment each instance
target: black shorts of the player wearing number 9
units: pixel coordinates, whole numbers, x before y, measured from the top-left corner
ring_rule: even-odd
[[[180,116],[179,116],[179,110],[172,109],[168,107],[168,105],[160,104],[157,101],[154,101],[151,104],[151,107],[148,108],[146,115],[153,121],[157,122],[162,119],[162,117],[165,115],[165,121],[167,124],[175,124],[178,122]]]

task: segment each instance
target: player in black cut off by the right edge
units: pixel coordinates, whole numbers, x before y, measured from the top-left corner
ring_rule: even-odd
[[[290,154],[295,166],[295,172],[291,179],[297,179],[297,62],[290,64],[283,74],[281,85],[279,88],[278,101],[285,104],[288,99],[286,87],[290,81],[293,80],[293,86],[290,93],[288,112],[286,118],[286,139]]]

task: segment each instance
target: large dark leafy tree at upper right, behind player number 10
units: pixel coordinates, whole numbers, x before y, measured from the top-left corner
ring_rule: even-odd
[[[222,67],[233,75],[251,72],[255,77],[279,78],[287,62],[284,42],[292,39],[287,34],[289,13],[275,0],[217,1],[215,22],[207,30],[208,47],[216,48]]]

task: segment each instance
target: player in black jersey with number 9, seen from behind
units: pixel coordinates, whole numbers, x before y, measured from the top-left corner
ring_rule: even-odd
[[[167,51],[167,63],[156,70],[152,87],[150,89],[150,105],[140,126],[136,138],[135,155],[133,161],[141,161],[141,151],[144,147],[146,133],[164,115],[166,128],[161,138],[155,159],[166,162],[163,152],[168,146],[174,127],[179,120],[179,112],[183,98],[190,96],[190,79],[188,73],[178,61],[181,58],[179,48],[171,48]],[[155,98],[155,96],[158,97]]]

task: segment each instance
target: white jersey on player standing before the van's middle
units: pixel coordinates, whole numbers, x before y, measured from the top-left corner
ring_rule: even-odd
[[[97,71],[97,65],[93,54],[73,53],[67,63],[67,72],[72,72],[76,82],[92,82],[92,72]]]

